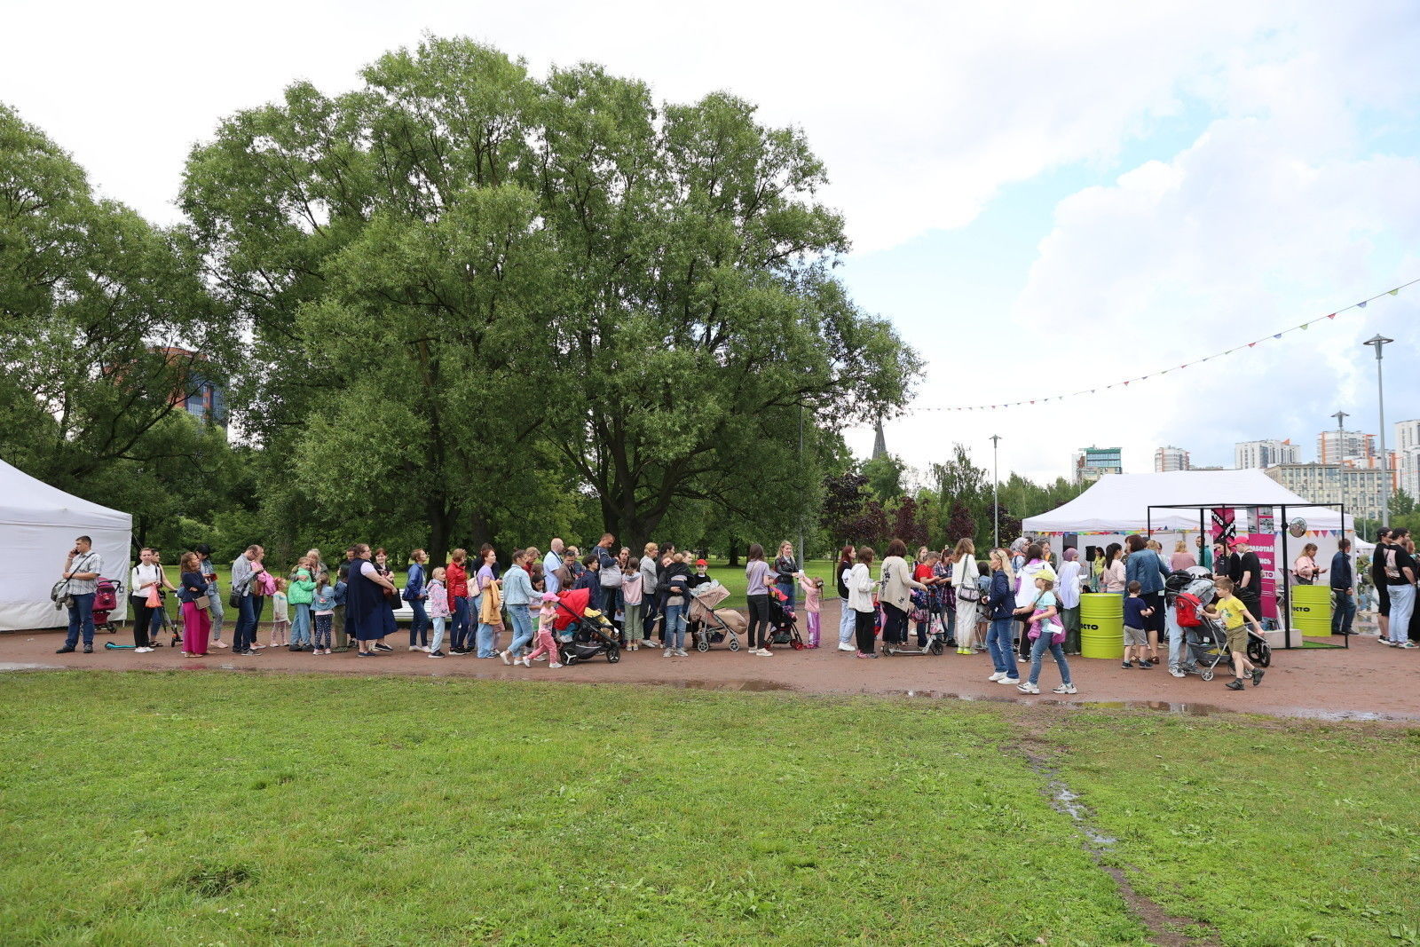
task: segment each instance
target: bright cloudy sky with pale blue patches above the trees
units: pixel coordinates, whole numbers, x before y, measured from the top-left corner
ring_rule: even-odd
[[[210,10],[210,11],[209,11]],[[304,78],[351,88],[423,31],[535,71],[598,61],[663,99],[730,89],[802,126],[849,221],[841,273],[929,361],[889,449],[1066,473],[1083,444],[1292,437],[1338,409],[1420,417],[1420,285],[1306,332],[1095,396],[1003,412],[1268,336],[1420,277],[1420,7],[1174,3],[23,4],[0,99],[105,196],[173,221],[187,149]],[[1389,432],[1387,432],[1389,436]],[[866,453],[870,432],[851,432]]]

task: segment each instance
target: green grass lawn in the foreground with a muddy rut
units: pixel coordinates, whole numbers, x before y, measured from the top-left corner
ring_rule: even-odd
[[[1416,943],[1420,730],[203,672],[3,679],[4,944]],[[1406,940],[1406,938],[1410,940]]]

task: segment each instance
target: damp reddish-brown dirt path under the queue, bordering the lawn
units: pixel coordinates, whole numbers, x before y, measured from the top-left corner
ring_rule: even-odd
[[[1041,673],[1039,697],[1017,693],[1015,687],[987,680],[991,662],[985,655],[963,656],[949,650],[941,656],[893,656],[859,660],[836,645],[838,602],[824,611],[825,645],[795,652],[780,647],[772,657],[747,652],[731,653],[719,645],[690,657],[662,657],[659,650],[623,653],[616,664],[599,657],[586,664],[550,670],[506,667],[497,659],[430,659],[410,653],[402,629],[389,643],[393,653],[361,659],[354,652],[329,656],[267,649],[256,657],[236,657],[213,650],[204,659],[183,659],[178,649],[160,647],[148,655],[106,650],[104,642],[132,643],[126,628],[115,635],[95,636],[95,652],[55,655],[64,643],[60,630],[7,632],[0,635],[0,670],[75,669],[104,670],[264,670],[327,672],[344,674],[427,674],[487,680],[534,679],[582,683],[623,683],[724,690],[791,690],[818,694],[883,694],[923,699],[1052,701],[1079,706],[1125,704],[1156,710],[1208,714],[1235,710],[1284,717],[1323,720],[1420,720],[1420,650],[1383,647],[1372,636],[1352,637],[1350,649],[1275,650],[1272,667],[1261,687],[1242,691],[1224,689],[1228,677],[1203,681],[1197,676],[1170,677],[1167,670],[1123,670],[1119,662],[1071,659],[1074,696],[1055,696],[1059,683],[1054,662]],[[268,632],[263,628],[261,640]],[[230,642],[230,625],[224,635]],[[508,636],[503,635],[503,643]],[[1339,643],[1340,639],[1332,639]],[[1021,666],[1022,670],[1025,666]],[[1221,669],[1220,669],[1221,670]]]

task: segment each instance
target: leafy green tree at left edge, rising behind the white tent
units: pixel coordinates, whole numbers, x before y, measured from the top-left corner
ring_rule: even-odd
[[[158,541],[206,517],[236,461],[182,400],[222,382],[230,334],[179,230],[97,197],[41,131],[0,105],[0,454],[133,513]]]

